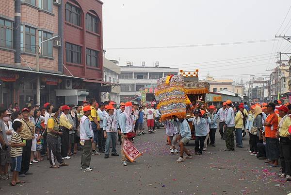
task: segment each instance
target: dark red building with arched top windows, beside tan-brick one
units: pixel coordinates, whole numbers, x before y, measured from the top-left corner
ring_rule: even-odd
[[[103,78],[102,2],[63,0],[65,74],[84,78],[73,88],[89,89],[89,97],[100,100]]]

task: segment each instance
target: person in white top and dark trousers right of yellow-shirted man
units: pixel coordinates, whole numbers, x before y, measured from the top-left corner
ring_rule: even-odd
[[[107,107],[109,105],[106,105]],[[98,108],[98,117],[100,119],[100,130],[98,131],[98,148],[99,152],[104,153],[105,152],[105,138],[104,138],[104,129],[103,129],[103,121],[104,117],[107,115],[107,112],[105,111],[105,104],[103,102],[100,103],[100,107]]]

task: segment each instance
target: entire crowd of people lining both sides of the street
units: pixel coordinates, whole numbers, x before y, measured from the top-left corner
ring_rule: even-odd
[[[19,177],[26,177],[33,163],[49,160],[49,168],[68,166],[71,159],[81,150],[81,171],[92,171],[91,156],[104,153],[108,159],[118,157],[117,142],[123,145],[125,139],[134,142],[135,136],[154,133],[155,120],[161,116],[155,105],[140,106],[131,102],[97,103],[91,99],[82,105],[61,105],[54,107],[18,105],[0,107],[0,178],[9,180],[10,185],[24,183]],[[254,104],[242,103],[237,107],[227,100],[219,110],[215,106],[193,109],[194,117],[169,118],[163,121],[170,144],[170,153],[179,154],[177,162],[192,159],[186,148],[192,138],[189,124],[195,132],[195,155],[202,155],[207,145],[215,147],[216,129],[226,142],[225,151],[235,147],[245,148],[242,137],[249,135],[249,153],[270,167],[278,167],[291,181],[291,105],[281,102]],[[111,151],[110,151],[111,150]],[[186,156],[184,156],[184,153]],[[122,165],[129,162],[121,150]],[[58,164],[56,163],[58,162]],[[134,162],[134,161],[133,161]],[[13,172],[9,174],[8,170]]]

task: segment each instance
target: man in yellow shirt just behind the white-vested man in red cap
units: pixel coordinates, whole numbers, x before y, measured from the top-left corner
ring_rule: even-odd
[[[91,122],[91,125],[92,125],[93,132],[94,132],[94,143],[92,144],[93,155],[99,155],[99,153],[96,151],[96,144],[97,144],[98,139],[99,139],[98,134],[101,131],[100,130],[100,120],[98,120],[100,118],[100,115],[97,114],[96,103],[97,102],[95,99],[90,100],[91,114],[88,116],[89,120]],[[102,134],[103,134],[103,131],[102,131]],[[98,146],[99,145],[102,145],[102,143],[98,142]],[[101,151],[99,151],[99,152],[101,152]]]

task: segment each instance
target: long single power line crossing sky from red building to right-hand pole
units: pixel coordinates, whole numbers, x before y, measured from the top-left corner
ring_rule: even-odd
[[[124,47],[124,48],[105,48],[105,50],[138,50],[138,49],[163,49],[163,48],[187,48],[187,47],[204,47],[204,46],[220,46],[220,45],[235,45],[246,43],[261,43],[270,42],[274,39],[267,40],[254,40],[254,41],[241,41],[241,42],[229,42],[229,43],[212,43],[212,44],[199,44],[199,45],[176,45],[176,46],[157,46],[157,47]]]

